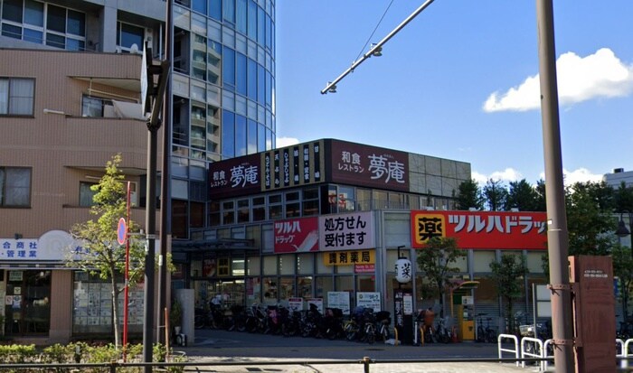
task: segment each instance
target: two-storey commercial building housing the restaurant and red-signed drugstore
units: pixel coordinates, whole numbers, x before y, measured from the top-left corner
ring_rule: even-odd
[[[468,163],[335,139],[213,163],[213,225],[174,242],[182,268],[174,285],[194,289],[196,308],[222,299],[227,310],[316,303],[344,314],[366,305],[412,316],[438,301],[424,291],[418,250],[430,237],[457,237],[466,256],[453,281],[457,288],[478,284],[459,296],[475,299],[477,312],[500,316],[489,265],[503,254],[525,256],[525,288],[544,284],[545,214],[457,211],[458,185],[469,179]],[[412,264],[407,284],[396,281],[400,257]],[[407,307],[396,309],[401,290]],[[447,294],[445,312],[463,319],[458,300],[452,307]],[[530,314],[531,303],[517,300],[516,310]],[[472,322],[473,303],[467,311]]]

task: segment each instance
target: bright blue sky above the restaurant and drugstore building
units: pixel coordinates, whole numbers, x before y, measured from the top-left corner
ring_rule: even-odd
[[[277,2],[277,145],[332,137],[468,162],[480,183],[543,178],[535,0],[435,0],[321,95],[390,2]],[[422,3],[394,0],[371,42]],[[633,170],[631,20],[631,0],[554,0],[568,182]]]

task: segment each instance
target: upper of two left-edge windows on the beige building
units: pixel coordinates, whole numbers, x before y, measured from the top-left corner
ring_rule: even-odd
[[[33,116],[35,79],[0,78],[0,115]]]

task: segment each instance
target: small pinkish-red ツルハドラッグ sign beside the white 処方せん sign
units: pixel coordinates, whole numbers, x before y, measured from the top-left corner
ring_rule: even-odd
[[[318,250],[318,218],[275,221],[275,253]]]

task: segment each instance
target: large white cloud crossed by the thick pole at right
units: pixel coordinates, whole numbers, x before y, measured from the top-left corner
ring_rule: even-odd
[[[627,96],[633,90],[633,65],[626,65],[609,48],[586,57],[572,51],[556,61],[558,97],[561,105],[591,98]],[[494,92],[484,103],[484,111],[526,111],[540,107],[539,75],[528,77],[505,93]]]

